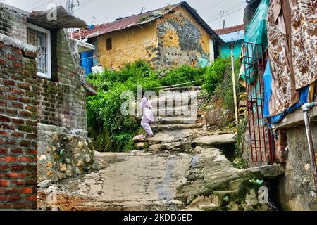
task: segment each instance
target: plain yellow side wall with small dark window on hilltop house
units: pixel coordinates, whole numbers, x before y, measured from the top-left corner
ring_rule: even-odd
[[[112,39],[111,50],[106,50],[107,38]],[[150,63],[156,57],[157,46],[156,22],[105,34],[98,38],[98,63],[113,69],[139,59]]]

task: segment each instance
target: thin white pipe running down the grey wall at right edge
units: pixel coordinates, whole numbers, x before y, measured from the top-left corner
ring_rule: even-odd
[[[313,147],[313,136],[311,135],[311,125],[309,123],[309,116],[308,111],[310,108],[317,106],[317,103],[307,103],[303,105],[303,112],[304,112],[304,121],[306,127],[306,135],[309,144],[309,155],[311,158],[311,167],[313,169],[313,181],[315,184],[315,189],[317,193],[317,168],[316,168],[316,156],[315,156],[315,149]]]

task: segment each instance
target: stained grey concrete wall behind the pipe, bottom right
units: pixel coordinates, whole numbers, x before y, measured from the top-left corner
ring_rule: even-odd
[[[317,123],[311,124],[317,150]],[[304,125],[287,129],[285,176],[280,179],[280,203],[285,210],[317,210],[313,172]],[[317,155],[316,155],[317,156]]]

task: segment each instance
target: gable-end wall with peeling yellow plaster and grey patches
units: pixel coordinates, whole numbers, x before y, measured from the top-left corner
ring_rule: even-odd
[[[174,13],[157,21],[159,51],[154,60],[156,68],[190,65],[201,57],[209,60],[209,34],[187,10],[179,6]]]

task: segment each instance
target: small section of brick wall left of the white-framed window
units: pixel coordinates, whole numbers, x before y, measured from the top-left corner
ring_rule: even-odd
[[[27,41],[27,12],[0,2],[0,34]]]

